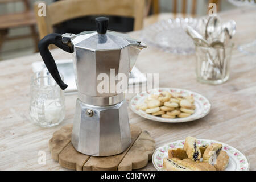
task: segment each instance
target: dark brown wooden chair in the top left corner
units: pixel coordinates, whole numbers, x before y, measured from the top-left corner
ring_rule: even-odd
[[[22,13],[12,13],[0,15],[0,49],[3,42],[7,40],[16,40],[22,38],[31,37],[34,39],[35,51],[38,51],[38,34],[36,32],[36,19],[34,12],[30,11],[30,6],[28,0],[0,0],[1,3],[11,3],[11,2],[23,2],[25,10]],[[28,35],[19,35],[14,37],[8,37],[8,31],[10,28],[18,27],[30,27],[31,33]]]

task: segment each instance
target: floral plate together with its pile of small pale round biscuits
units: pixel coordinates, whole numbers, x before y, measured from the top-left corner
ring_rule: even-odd
[[[134,113],[152,121],[180,123],[205,117],[211,104],[199,93],[177,88],[141,92],[130,100]]]

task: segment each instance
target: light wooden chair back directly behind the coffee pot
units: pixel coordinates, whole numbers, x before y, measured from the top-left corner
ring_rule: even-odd
[[[145,0],[62,0],[46,5],[46,16],[38,16],[39,3],[34,10],[40,38],[53,32],[53,26],[88,15],[112,15],[134,18],[134,30],[143,26]],[[45,2],[43,2],[45,3]]]

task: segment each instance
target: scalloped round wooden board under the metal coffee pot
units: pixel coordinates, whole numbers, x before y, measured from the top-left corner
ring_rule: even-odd
[[[147,166],[155,150],[155,140],[147,131],[130,125],[131,145],[121,154],[95,157],[77,152],[71,143],[72,124],[61,127],[49,140],[52,159],[62,167],[77,171],[124,171]]]

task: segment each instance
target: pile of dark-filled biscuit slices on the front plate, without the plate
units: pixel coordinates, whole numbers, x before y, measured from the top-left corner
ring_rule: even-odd
[[[199,147],[196,138],[186,137],[183,148],[168,151],[163,168],[167,171],[224,171],[228,162],[229,156],[222,150],[222,144]]]

